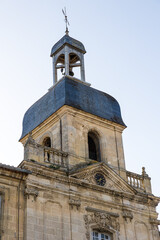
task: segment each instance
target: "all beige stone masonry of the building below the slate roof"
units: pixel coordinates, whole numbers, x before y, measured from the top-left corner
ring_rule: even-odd
[[[23,139],[19,167],[26,172],[1,169],[2,239],[88,240],[93,230],[113,240],[159,239],[159,198],[152,195],[144,169],[142,175],[125,170],[122,129],[113,125],[64,106]],[[90,129],[102,136],[101,162],[88,158]],[[51,148],[42,145],[46,136],[52,139]],[[106,149],[108,142],[112,144]],[[52,161],[45,160],[46,150],[53,153]],[[96,173],[105,177],[104,186],[97,185]]]

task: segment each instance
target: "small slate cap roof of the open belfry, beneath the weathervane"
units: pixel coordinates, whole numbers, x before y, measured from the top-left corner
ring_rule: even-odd
[[[84,48],[83,43],[81,43],[80,41],[71,38],[69,35],[64,35],[53,47],[51,50],[51,57],[54,55],[54,53],[56,53],[56,51],[61,48],[62,46],[64,46],[65,44],[68,44],[72,47],[75,47],[77,49],[79,49],[82,53],[86,53],[86,50]]]

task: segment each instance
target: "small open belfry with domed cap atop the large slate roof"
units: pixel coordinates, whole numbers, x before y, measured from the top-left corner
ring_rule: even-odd
[[[80,79],[85,82],[85,69],[84,69],[84,54],[86,50],[83,44],[68,35],[64,35],[51,50],[51,57],[53,62],[53,84],[57,83],[58,70],[60,76],[74,77],[74,69],[80,68]],[[60,77],[60,78],[61,78]]]

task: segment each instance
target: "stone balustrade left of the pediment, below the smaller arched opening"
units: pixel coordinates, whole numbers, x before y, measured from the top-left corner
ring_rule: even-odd
[[[67,156],[68,154],[63,151],[44,147],[44,162],[67,167]]]

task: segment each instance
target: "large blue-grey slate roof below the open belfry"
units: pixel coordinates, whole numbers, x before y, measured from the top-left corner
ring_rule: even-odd
[[[64,77],[27,110],[20,139],[64,105],[125,126],[120,106],[115,98],[69,77]]]

